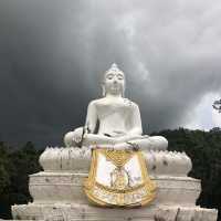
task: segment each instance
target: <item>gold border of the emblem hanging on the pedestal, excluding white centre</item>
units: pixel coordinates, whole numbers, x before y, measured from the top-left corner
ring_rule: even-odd
[[[145,206],[152,201],[156,197],[156,183],[152,182],[148,176],[146,162],[141,151],[127,150],[110,150],[94,149],[92,152],[92,164],[88,178],[84,182],[84,191],[88,200],[101,207],[137,207]],[[141,180],[140,185],[135,187],[127,187],[125,189],[116,189],[106,187],[96,181],[97,158],[98,155],[104,155],[116,167],[124,167],[131,157],[137,156]]]

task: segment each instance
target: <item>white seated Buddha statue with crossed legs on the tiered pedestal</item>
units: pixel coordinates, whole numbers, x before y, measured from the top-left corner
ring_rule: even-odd
[[[105,72],[102,86],[104,97],[90,103],[85,126],[64,136],[67,147],[167,149],[165,137],[143,135],[139,107],[124,97],[125,75],[116,64]]]

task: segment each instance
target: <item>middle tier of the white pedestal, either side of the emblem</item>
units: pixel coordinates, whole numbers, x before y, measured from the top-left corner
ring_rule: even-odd
[[[39,172],[30,176],[29,190],[35,203],[88,204],[83,191],[87,173]],[[150,176],[157,185],[154,204],[194,207],[201,187],[200,180],[190,177]]]

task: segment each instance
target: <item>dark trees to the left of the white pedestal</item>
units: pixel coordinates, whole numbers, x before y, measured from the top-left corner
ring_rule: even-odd
[[[11,218],[11,204],[31,201],[29,175],[41,170],[38,162],[41,151],[32,143],[19,149],[0,143],[0,218]]]

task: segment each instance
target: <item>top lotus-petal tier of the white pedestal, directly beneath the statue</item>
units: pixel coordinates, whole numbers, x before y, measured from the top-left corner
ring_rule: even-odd
[[[40,156],[40,165],[44,171],[88,172],[91,149],[83,147],[48,147]],[[143,151],[148,172],[152,176],[187,176],[192,168],[191,159],[185,152],[177,151]]]

